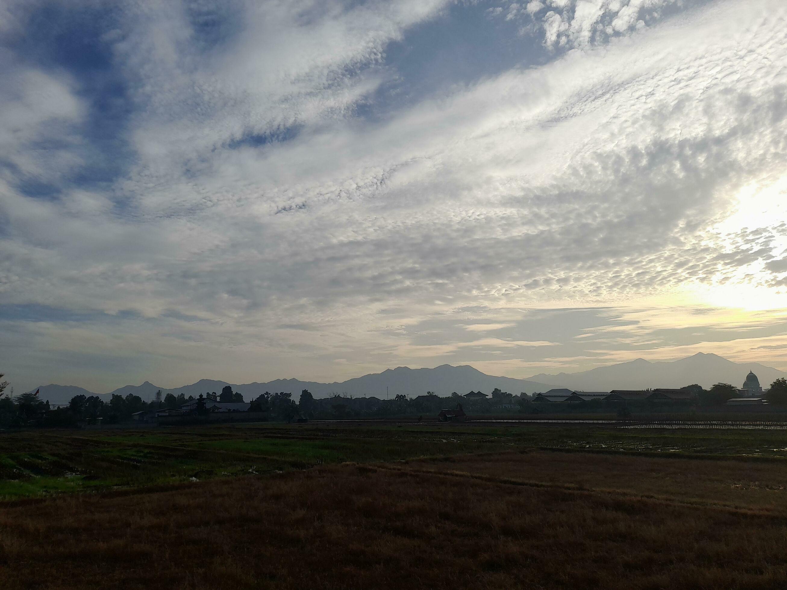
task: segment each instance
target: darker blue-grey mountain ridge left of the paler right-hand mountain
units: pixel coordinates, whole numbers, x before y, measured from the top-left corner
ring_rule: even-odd
[[[525,379],[513,379],[508,377],[495,377],[488,375],[463,365],[453,367],[451,365],[441,365],[434,369],[411,369],[409,367],[397,367],[387,369],[382,373],[372,373],[349,379],[345,382],[319,383],[313,381],[299,381],[298,379],[276,379],[267,383],[246,383],[232,384],[224,381],[213,381],[211,379],[201,379],[191,385],[183,385],[173,389],[164,389],[150,382],[142,385],[125,385],[115,389],[110,393],[98,394],[109,401],[113,394],[127,396],[129,393],[140,396],[142,400],[153,400],[157,389],[161,389],[162,395],[172,393],[184,396],[198,396],[200,393],[216,392],[220,393],[225,385],[231,385],[233,391],[242,393],[246,400],[257,397],[260,393],[269,391],[271,393],[284,391],[291,392],[293,399],[297,401],[303,389],[309,389],[315,397],[327,397],[333,393],[346,394],[353,397],[377,396],[381,399],[387,395],[391,398],[397,394],[407,396],[419,396],[434,391],[441,396],[447,396],[456,391],[457,393],[467,393],[471,390],[491,393],[493,389],[499,387],[508,393],[534,393],[550,389],[551,385],[544,383],[527,381]],[[60,389],[57,389],[60,388]],[[35,389],[33,389],[35,391]],[[49,397],[45,397],[45,394]],[[41,388],[41,399],[49,399],[52,404],[67,404],[73,396],[83,394],[85,396],[97,395],[80,387],[69,388],[63,385],[45,385]]]

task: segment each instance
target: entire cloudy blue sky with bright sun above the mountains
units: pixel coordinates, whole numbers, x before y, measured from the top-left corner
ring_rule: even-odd
[[[0,0],[17,391],[787,369],[783,0]]]

